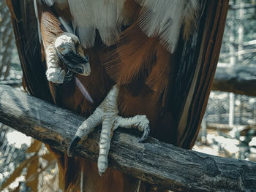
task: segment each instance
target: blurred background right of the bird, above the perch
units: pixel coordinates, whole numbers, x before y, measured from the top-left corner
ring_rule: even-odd
[[[256,161],[255,25],[256,1],[230,0],[217,72],[193,150]]]

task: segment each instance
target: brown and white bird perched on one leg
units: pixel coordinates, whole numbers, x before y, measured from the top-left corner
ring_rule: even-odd
[[[191,149],[219,58],[228,1],[7,0],[33,96],[85,118],[51,150],[62,191],[165,191],[108,168],[116,128]],[[98,162],[75,156],[102,127]],[[82,176],[83,175],[83,176]]]

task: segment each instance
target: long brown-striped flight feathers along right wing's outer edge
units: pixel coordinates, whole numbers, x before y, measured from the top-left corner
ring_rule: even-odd
[[[211,82],[217,67],[222,36],[225,28],[228,1],[207,1],[201,20],[199,37],[200,44],[197,68],[193,76],[192,85],[187,91],[187,99],[181,118],[178,122],[176,145],[192,148],[195,144],[200,122],[206,110]],[[214,11],[213,11],[214,10]],[[211,24],[210,24],[211,23]]]

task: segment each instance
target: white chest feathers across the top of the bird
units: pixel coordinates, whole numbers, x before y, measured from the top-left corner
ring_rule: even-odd
[[[198,7],[197,0],[48,1],[69,7],[73,28],[83,47],[94,45],[96,29],[105,45],[113,45],[120,37],[121,25],[132,20],[148,37],[158,37],[170,53],[175,50],[181,26],[184,25],[184,36],[189,34]]]

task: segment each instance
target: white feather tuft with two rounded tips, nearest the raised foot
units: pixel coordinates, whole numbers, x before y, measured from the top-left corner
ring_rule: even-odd
[[[105,45],[116,42],[121,31],[121,15],[125,0],[68,0],[73,26],[84,47],[94,45],[95,30],[99,30]]]

